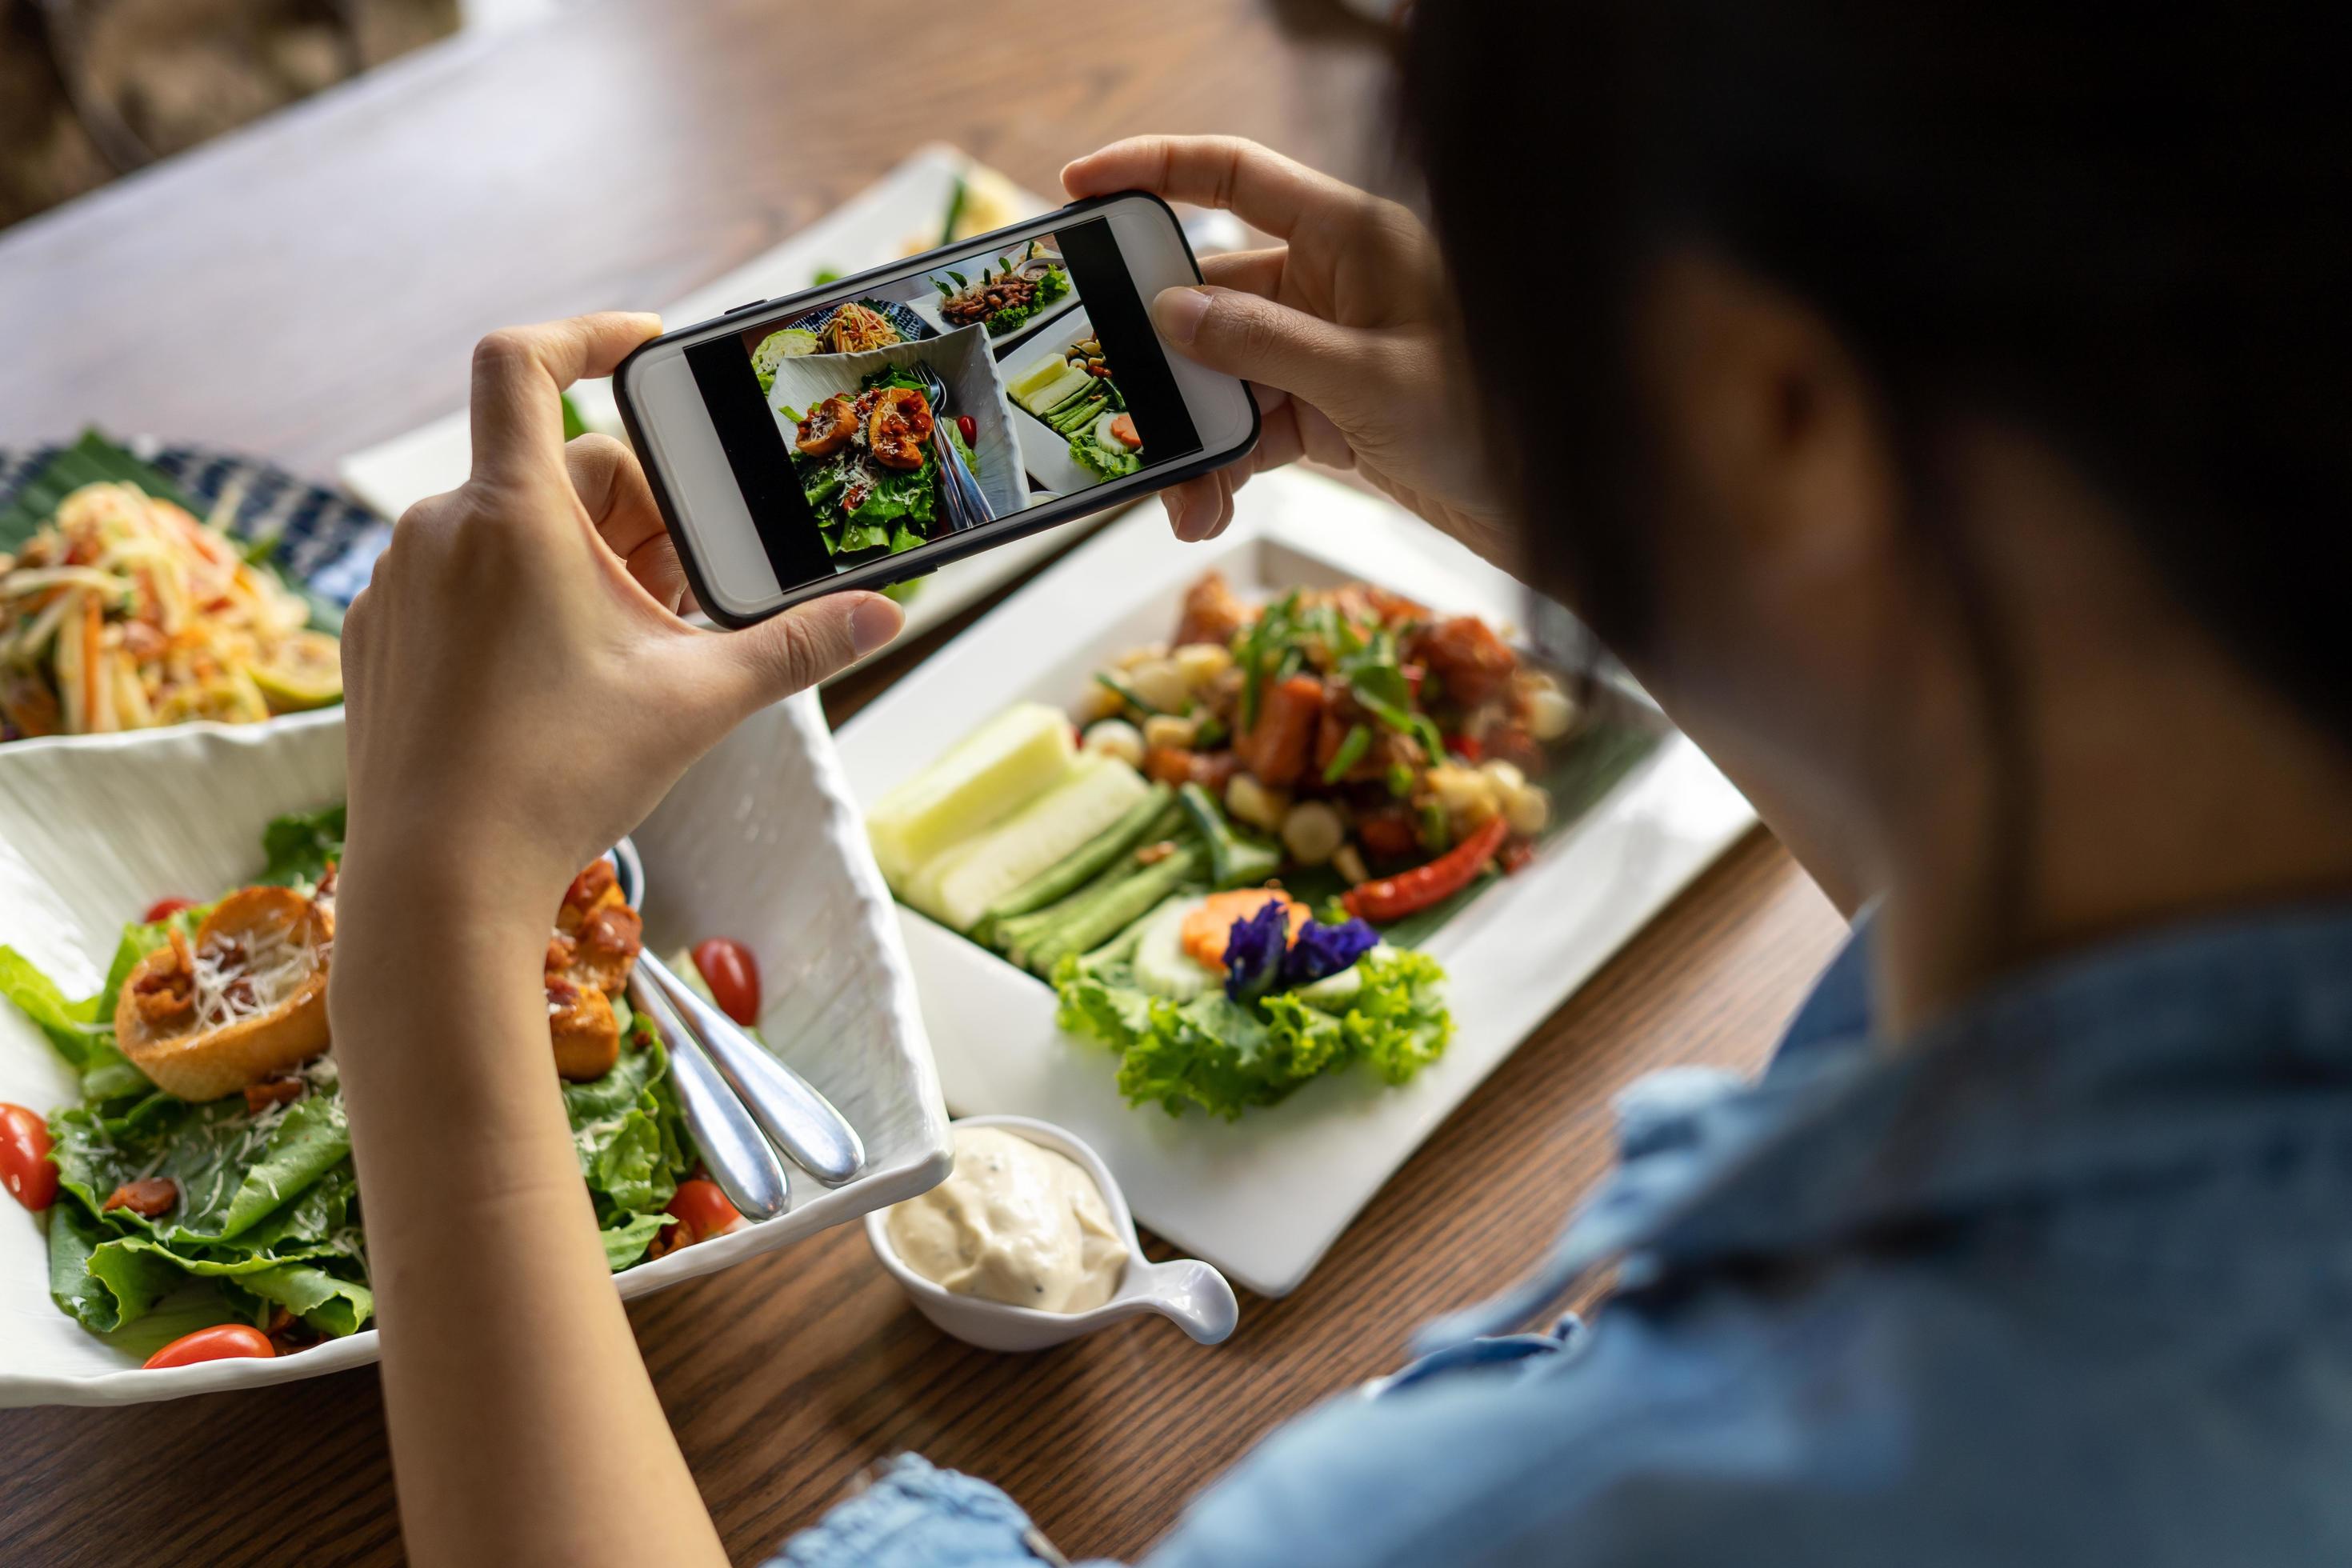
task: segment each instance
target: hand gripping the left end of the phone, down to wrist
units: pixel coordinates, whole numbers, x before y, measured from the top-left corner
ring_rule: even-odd
[[[473,477],[393,529],[343,623],[346,891],[442,867],[475,898],[555,910],[743,717],[889,642],[898,607],[844,592],[741,632],[677,618],[684,583],[644,470],[562,440],[557,393],[661,331],[581,315],[473,355]]]

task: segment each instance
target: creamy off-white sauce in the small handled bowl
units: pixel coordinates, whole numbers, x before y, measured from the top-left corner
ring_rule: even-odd
[[[931,1284],[1014,1307],[1087,1312],[1127,1272],[1127,1241],[1087,1168],[997,1126],[955,1128],[955,1171],[894,1204],[887,1229]]]

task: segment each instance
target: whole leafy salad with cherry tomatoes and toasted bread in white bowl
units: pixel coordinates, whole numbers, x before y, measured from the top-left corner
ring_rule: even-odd
[[[68,999],[0,947],[0,997],[80,1079],[80,1100],[49,1114],[0,1105],[0,1178],[47,1220],[59,1309],[153,1349],[148,1366],[287,1354],[374,1316],[327,1030],[341,839],[341,806],[273,820],[249,886],[148,907],[94,997]],[[614,1272],[743,1222],[696,1173],[661,1034],[623,997],[640,943],[597,860],[564,891],[543,973]],[[680,973],[696,971],[722,1009],[757,1016],[736,943],[682,954]]]

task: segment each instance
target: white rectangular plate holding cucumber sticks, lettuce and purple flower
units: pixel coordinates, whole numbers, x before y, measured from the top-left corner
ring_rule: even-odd
[[[1461,545],[1296,470],[1244,489],[1214,545],[1178,545],[1160,508],[1136,508],[856,715],[840,736],[856,797],[877,799],[1016,698],[1070,708],[1108,656],[1169,635],[1209,567],[1247,597],[1367,578],[1444,611],[1526,614],[1526,592]],[[1112,1058],[1054,1027],[1047,985],[901,910],[948,1105],[1070,1128],[1138,1220],[1251,1291],[1289,1293],[1446,1112],[1755,820],[1696,745],[1653,722],[1665,738],[1632,773],[1428,943],[1458,1032],[1404,1088],[1336,1074],[1230,1124],[1134,1110]]]

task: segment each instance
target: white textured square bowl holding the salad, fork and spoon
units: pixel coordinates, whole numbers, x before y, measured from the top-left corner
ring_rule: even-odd
[[[343,715],[186,724],[0,748],[0,943],[68,997],[106,978],[122,924],[167,893],[261,870],[261,827],[343,792]],[[835,1190],[793,1171],[793,1206],[616,1276],[623,1298],[724,1269],[948,1173],[948,1119],[889,893],[814,696],[769,708],[694,764],[635,832],[644,938],[734,936],[760,961],[762,1034],[858,1128],[868,1168]],[[75,1098],[47,1039],[0,1001],[0,1100]],[[374,1331],[275,1361],[139,1371],[49,1300],[40,1222],[0,1201],[0,1406],[136,1403],[315,1378],[376,1359]]]

